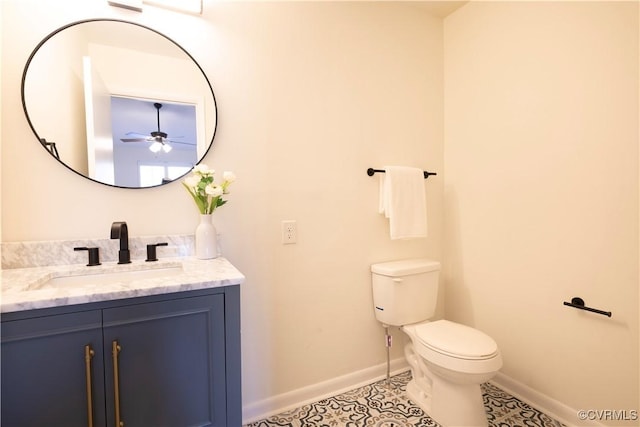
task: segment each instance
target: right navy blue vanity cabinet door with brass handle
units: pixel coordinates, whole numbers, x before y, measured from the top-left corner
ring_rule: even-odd
[[[227,425],[224,293],[105,309],[103,328],[107,425]]]

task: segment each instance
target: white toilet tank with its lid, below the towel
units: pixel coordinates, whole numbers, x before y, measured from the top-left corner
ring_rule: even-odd
[[[376,319],[385,325],[401,326],[433,317],[439,274],[440,263],[424,258],[372,264]]]

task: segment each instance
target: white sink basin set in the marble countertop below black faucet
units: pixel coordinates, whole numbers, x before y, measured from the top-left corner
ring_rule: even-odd
[[[144,268],[117,272],[87,272],[86,274],[61,275],[51,277],[45,282],[34,283],[29,290],[51,288],[78,288],[82,286],[109,285],[126,283],[134,280],[156,279],[175,276],[183,272],[182,265],[171,265],[160,268]]]

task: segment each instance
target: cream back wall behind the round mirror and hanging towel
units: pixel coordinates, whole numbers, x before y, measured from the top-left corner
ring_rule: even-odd
[[[389,3],[215,2],[203,17],[99,0],[3,5],[2,237],[192,233],[198,215],[179,183],[123,190],[52,161],[20,108],[22,67],[35,45],[71,21],[118,17],[180,43],[207,73],[218,102],[205,162],[238,176],[216,212],[223,250],[242,288],[243,394],[254,404],[384,363],[369,265],[441,258],[442,21]],[[425,181],[430,236],[394,241],[377,213],[368,167],[438,172]],[[298,244],[280,222],[298,221]],[[401,345],[393,356],[401,356]]]

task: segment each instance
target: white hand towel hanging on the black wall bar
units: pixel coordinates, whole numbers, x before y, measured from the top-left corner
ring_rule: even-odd
[[[391,239],[427,237],[427,202],[422,169],[385,166],[380,174],[379,212],[389,218]]]

